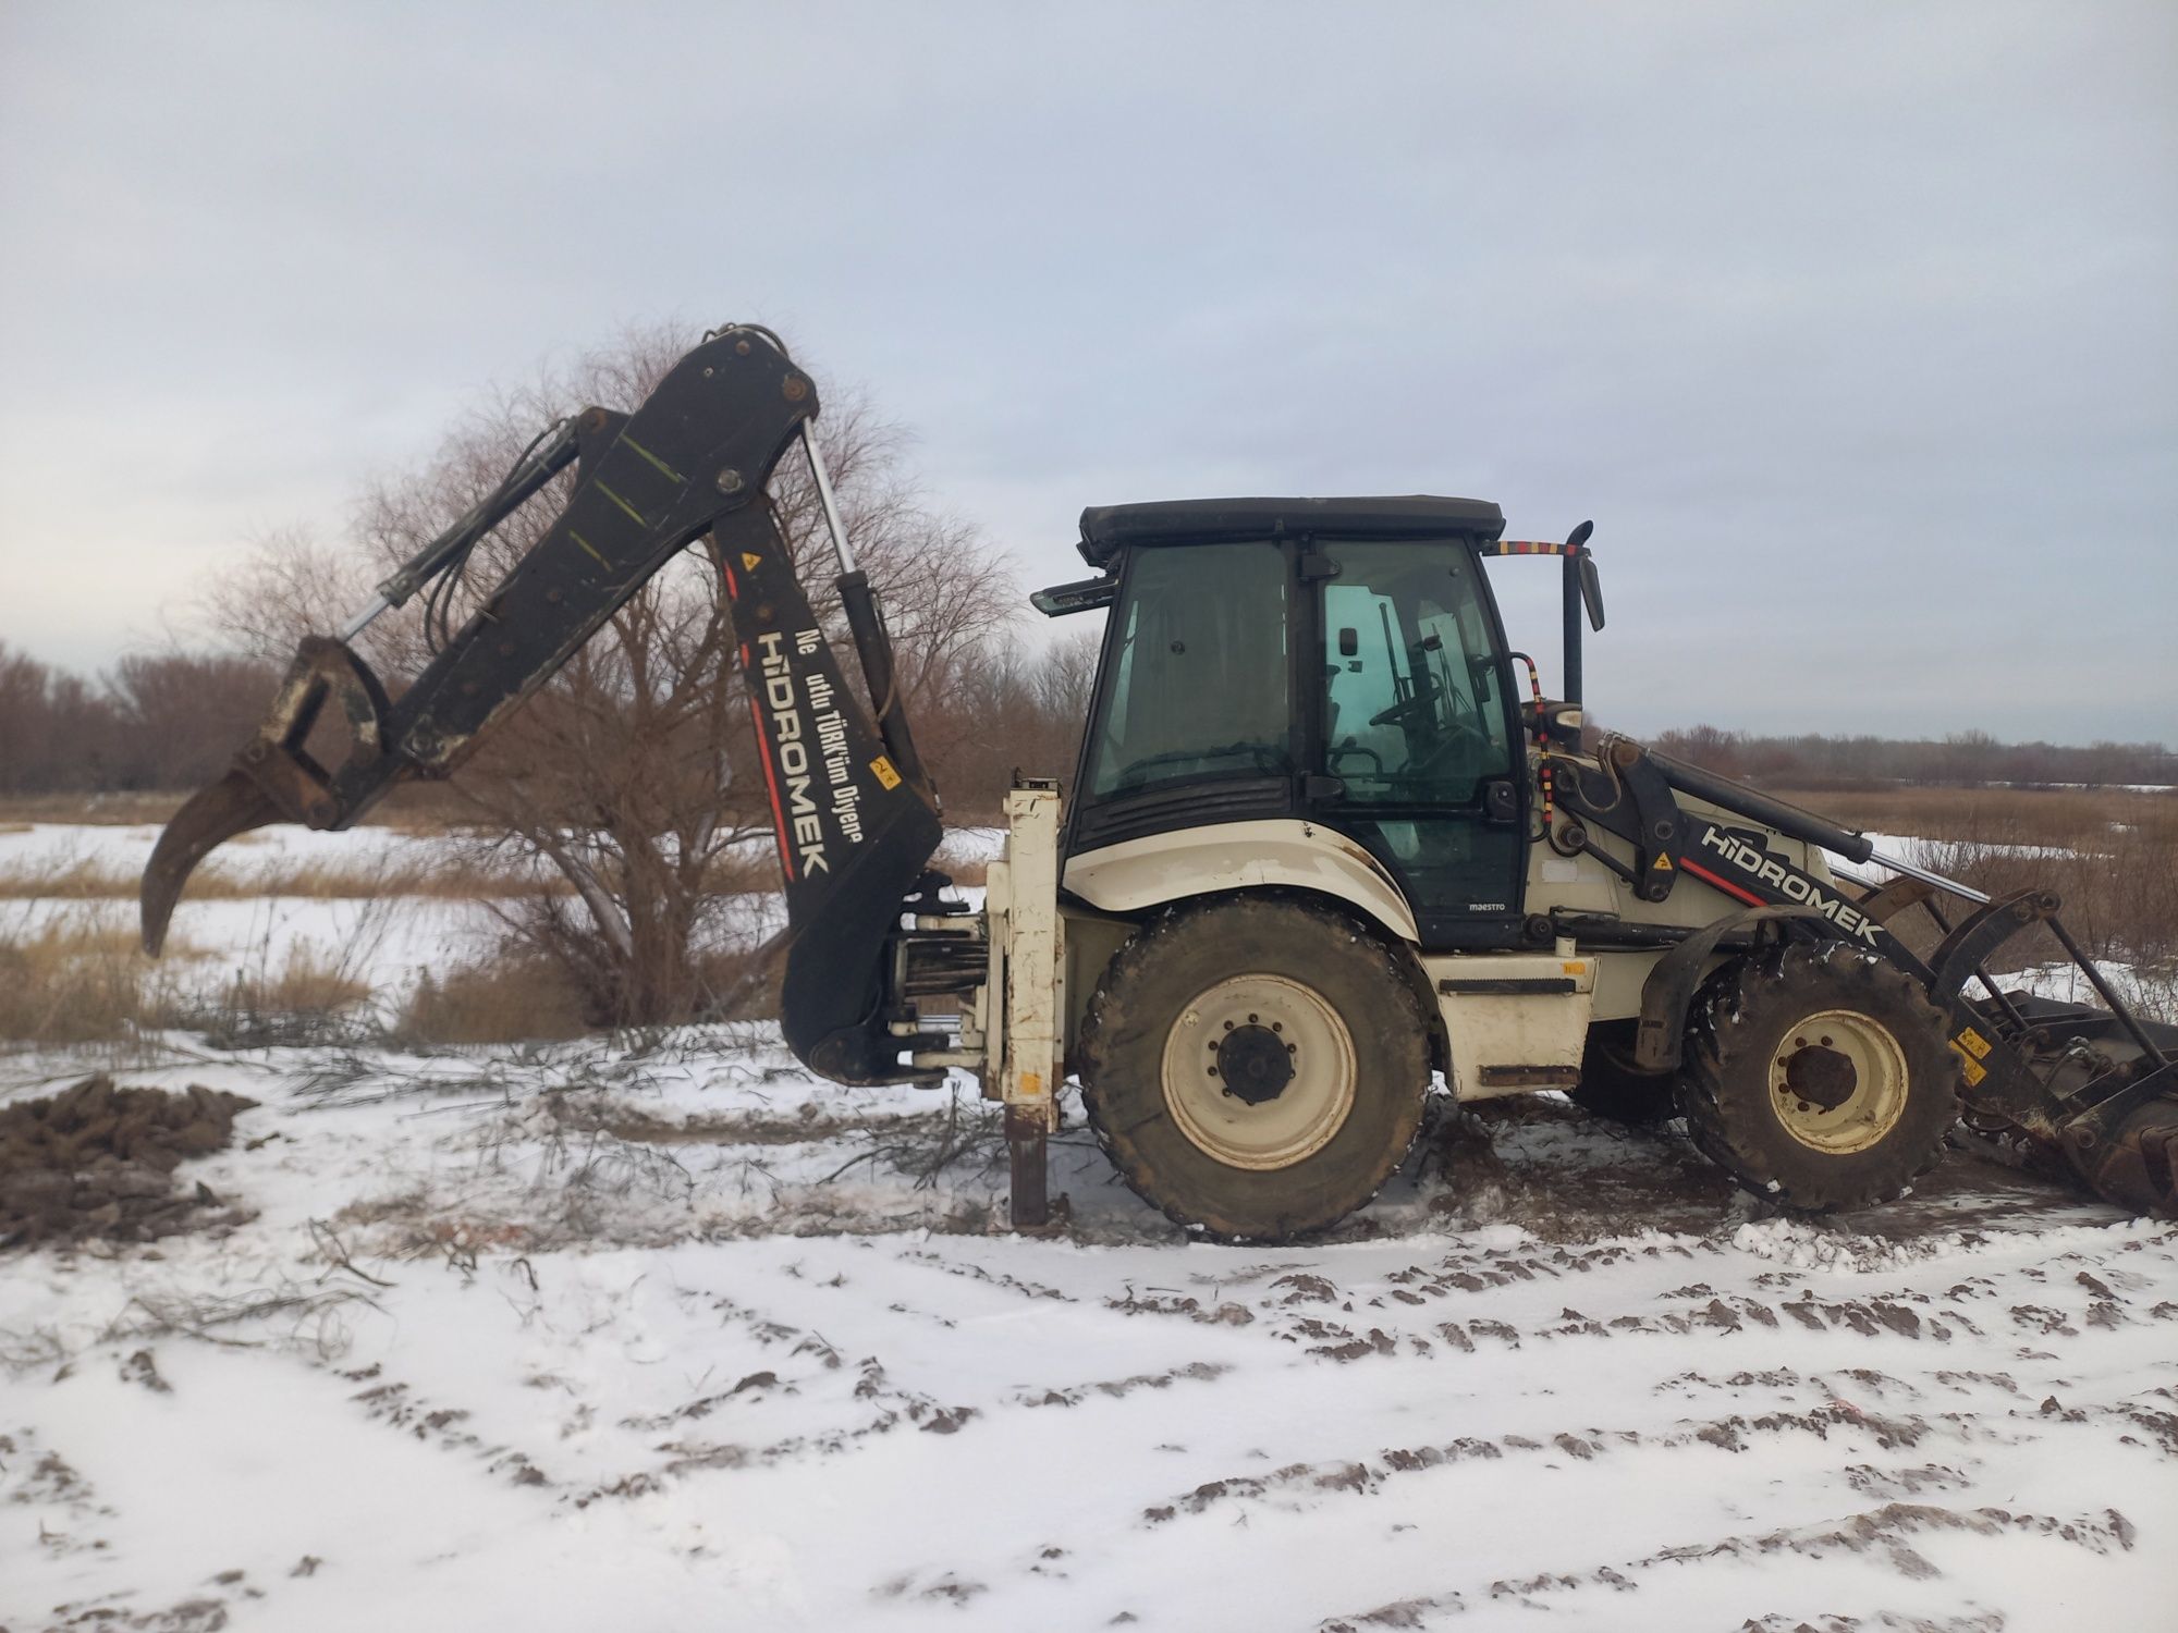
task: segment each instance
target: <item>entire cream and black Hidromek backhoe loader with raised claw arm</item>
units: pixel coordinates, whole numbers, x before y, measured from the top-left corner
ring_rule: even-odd
[[[780,1030],[836,1082],[971,1073],[1004,1104],[1015,1226],[1048,1219],[1069,1076],[1126,1182],[1222,1239],[1359,1208],[1437,1078],[1461,1102],[1555,1089],[1684,1117],[1784,1208],[1899,1195],[1960,1119],[2124,1208],[2178,1206],[2178,1028],[2119,999],[2054,897],[1991,901],[1623,736],[1583,751],[1581,638],[1603,627],[1586,523],[1514,542],[1496,505],[1431,496],[1082,512],[1089,575],[1032,597],[1106,612],[1072,795],[1013,788],[971,908],[930,869],[939,799],[817,412],[780,340],[734,324],[632,414],[590,407],[540,438],[338,640],[301,642],[264,727],[163,832],[146,947],[220,840],[348,827],[394,784],[453,773],[708,540],[786,895]],[[812,614],[767,501],[797,446],[843,631]],[[444,607],[477,540],[560,472],[542,540],[390,697],[348,642],[427,588]],[[1559,564],[1559,699],[1505,640],[1485,564],[1512,555]],[[329,699],[348,725],[331,769],[303,749]],[[1934,951],[1901,938],[1908,912],[1930,914]],[[1999,991],[1989,960],[2036,925],[2104,1008]]]

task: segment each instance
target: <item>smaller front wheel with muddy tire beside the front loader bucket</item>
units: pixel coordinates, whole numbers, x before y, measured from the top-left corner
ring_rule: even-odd
[[[1943,1156],[1958,1056],[1906,971],[1797,943],[1718,971],[1703,993],[1679,1108],[1742,1187],[1810,1213],[1860,1208]]]

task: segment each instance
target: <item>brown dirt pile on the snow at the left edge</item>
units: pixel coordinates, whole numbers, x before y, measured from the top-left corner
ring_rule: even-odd
[[[179,1189],[174,1167],[227,1145],[255,1104],[198,1084],[115,1089],[98,1073],[0,1108],[0,1248],[152,1241],[213,1221],[203,1211],[220,1200],[203,1184]]]

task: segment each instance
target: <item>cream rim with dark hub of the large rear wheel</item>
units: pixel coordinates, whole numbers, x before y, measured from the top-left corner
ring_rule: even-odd
[[[1218,982],[1165,1036],[1165,1108],[1196,1150],[1226,1167],[1268,1171],[1320,1152],[1353,1110],[1355,1078],[1346,1021],[1283,975]]]

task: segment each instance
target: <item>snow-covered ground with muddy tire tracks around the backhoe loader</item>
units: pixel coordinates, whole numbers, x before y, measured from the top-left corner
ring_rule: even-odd
[[[388,932],[446,956],[462,925],[409,908],[457,904]],[[87,1069],[0,1058],[0,1104]],[[1013,1235],[978,1102],[815,1082],[762,1028],[176,1034],[122,1078],[261,1102],[181,1169],[246,1217],[0,1256],[9,1633],[2032,1633],[2178,1603],[2178,1228],[1975,1158],[1806,1224],[1671,1132],[1437,1106],[1361,1217],[1263,1250],[1187,1241],[1078,1113],[1069,1217]]]

